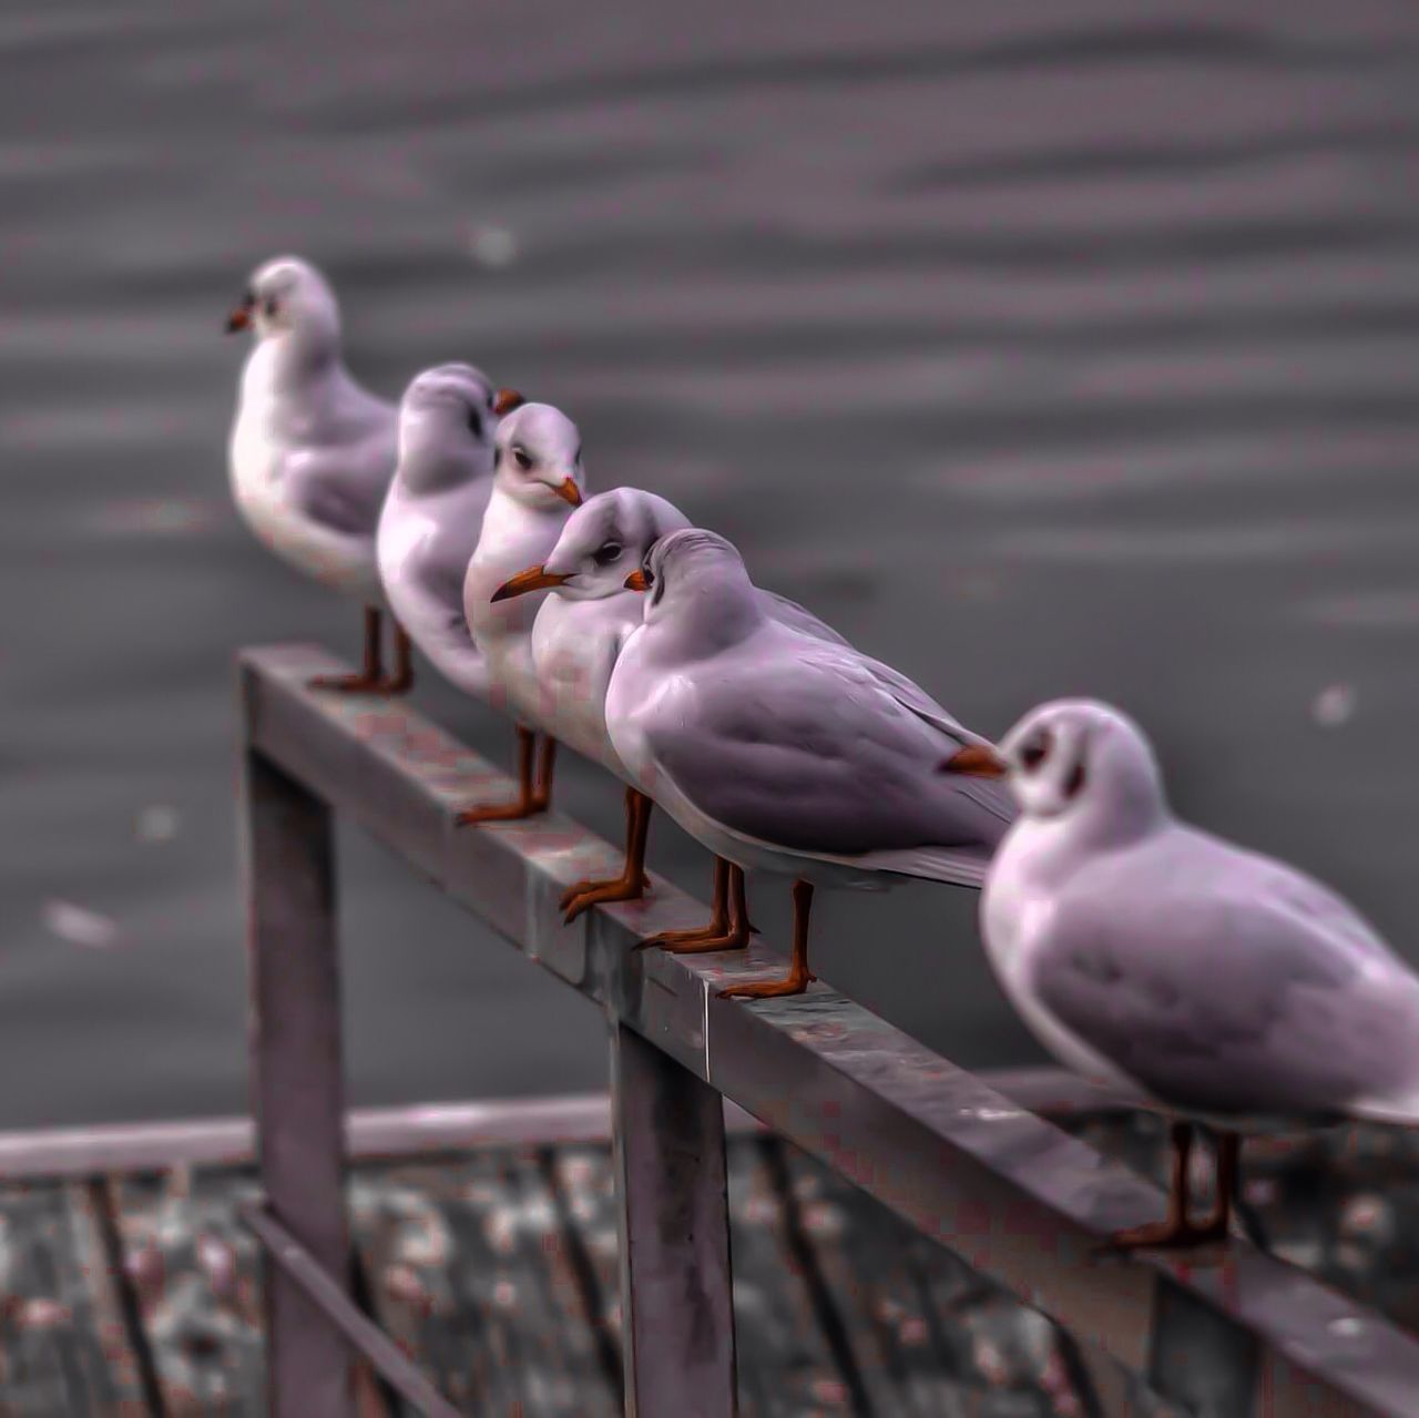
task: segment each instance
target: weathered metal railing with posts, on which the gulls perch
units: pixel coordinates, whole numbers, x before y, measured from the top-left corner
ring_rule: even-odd
[[[348,1414],[350,1344],[397,1373],[329,1299],[350,1293],[332,810],[606,1013],[629,1412],[734,1411],[721,1094],[1067,1329],[1108,1414],[1128,1411],[1127,1375],[1206,1418],[1419,1412],[1419,1341],[1240,1238],[1104,1258],[1161,1194],[851,1001],[717,998],[772,968],[761,944],[630,950],[702,918],[666,883],[563,925],[558,894],[614,869],[613,849],[558,813],[455,829],[502,776],[410,708],[305,688],[333,667],[308,647],[240,661],[254,1106],[280,1228],[264,1231],[302,1258],[299,1276],[268,1268],[277,1418]]]

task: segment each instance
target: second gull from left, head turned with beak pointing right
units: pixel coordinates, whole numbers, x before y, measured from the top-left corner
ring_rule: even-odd
[[[522,403],[473,365],[417,375],[399,406],[399,466],[379,517],[385,599],[444,678],[488,697],[488,667],[463,610],[463,581],[492,497],[498,419]],[[392,687],[409,684],[402,657]]]

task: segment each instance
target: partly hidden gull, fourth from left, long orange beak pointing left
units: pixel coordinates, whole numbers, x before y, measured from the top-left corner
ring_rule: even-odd
[[[578,881],[562,896],[566,920],[602,901],[640,900],[647,890],[646,840],[651,801],[640,792],[612,748],[606,731],[606,691],[622,646],[644,620],[644,602],[626,588],[627,568],[639,568],[650,548],[690,527],[674,504],[634,487],[617,487],[579,507],[556,546],[495,593],[507,600],[529,590],[551,590],[532,626],[532,666],[542,691],[542,713],[556,737],[579,754],[627,781],[626,864],[609,880]],[[769,590],[755,590],[771,616],[836,644],[843,637],[802,606]],[[732,891],[734,901],[729,894]],[[724,950],[748,944],[744,873],[717,859],[714,918],[705,930],[667,931],[648,944],[687,944]],[[742,937],[742,938],[741,938]]]

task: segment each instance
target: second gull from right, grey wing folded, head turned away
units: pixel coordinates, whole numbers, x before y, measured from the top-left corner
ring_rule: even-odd
[[[986,740],[888,666],[772,615],[714,532],[663,538],[626,585],[648,596],[606,696],[617,757],[717,857],[793,879],[789,974],[724,994],[807,988],[815,886],[981,884],[1009,799],[932,769]]]

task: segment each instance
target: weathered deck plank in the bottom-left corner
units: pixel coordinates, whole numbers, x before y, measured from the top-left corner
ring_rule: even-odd
[[[146,1415],[82,1184],[0,1188],[0,1295],[4,1418]]]

